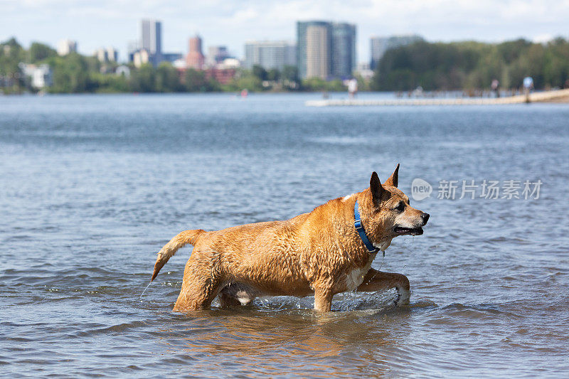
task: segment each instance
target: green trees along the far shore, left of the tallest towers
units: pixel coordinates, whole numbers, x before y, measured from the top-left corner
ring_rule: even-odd
[[[128,63],[129,75],[117,75],[115,71],[119,64],[116,62],[100,62],[94,56],[78,53],[59,56],[50,46],[37,42],[31,43],[30,48],[25,50],[11,38],[0,44],[2,92],[38,90],[22,75],[19,63],[48,64],[53,74],[52,85],[44,90],[51,93],[344,90],[339,80],[300,80],[294,66],[285,66],[282,71],[265,70],[261,66],[254,66],[252,70],[238,69],[234,78],[225,84],[208,77],[203,70],[189,68],[180,72],[168,62],[160,63],[157,67],[148,63],[138,68]],[[11,80],[5,80],[8,74]]]

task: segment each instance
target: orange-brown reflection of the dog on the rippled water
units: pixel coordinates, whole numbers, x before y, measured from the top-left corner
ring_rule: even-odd
[[[166,352],[177,358],[208,357],[213,365],[234,362],[251,374],[374,375],[388,370],[385,351],[400,351],[408,337],[403,326],[409,310],[337,312],[202,311],[178,319],[161,330]],[[385,321],[397,318],[392,333]],[[382,353],[383,352],[383,353]],[[400,357],[401,364],[405,358]],[[349,363],[349,364],[346,364]],[[243,367],[245,365],[245,368]]]

